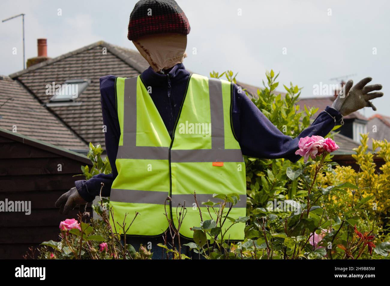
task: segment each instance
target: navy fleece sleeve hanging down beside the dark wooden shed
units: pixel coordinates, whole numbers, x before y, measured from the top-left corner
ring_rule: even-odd
[[[104,183],[102,195],[104,197],[110,196],[112,182],[118,175],[115,159],[118,152],[121,129],[119,127],[116,109],[115,76],[107,75],[100,78],[100,94],[103,124],[106,126],[106,152],[112,168],[112,174],[98,174],[88,181],[80,180],[75,182],[75,186],[80,196],[87,202],[91,202],[99,195],[102,182]]]

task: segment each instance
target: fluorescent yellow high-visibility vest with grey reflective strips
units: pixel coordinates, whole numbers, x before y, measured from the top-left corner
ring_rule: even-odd
[[[114,231],[122,234],[119,225],[125,221],[128,228],[138,212],[128,235],[159,236],[169,226],[168,217],[183,237],[192,238],[190,228],[201,222],[194,191],[203,221],[216,219],[202,205],[221,201],[213,194],[238,194],[228,216],[246,216],[245,163],[232,131],[231,88],[228,81],[191,74],[171,140],[142,77],[116,78],[121,137],[110,194]],[[179,226],[180,211],[185,217]],[[223,231],[231,224],[225,219]],[[243,240],[244,228],[245,223],[236,223],[224,238]]]

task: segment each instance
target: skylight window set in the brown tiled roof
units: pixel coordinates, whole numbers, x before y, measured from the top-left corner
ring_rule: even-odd
[[[83,91],[89,86],[89,79],[70,79],[64,82],[64,84],[52,84],[46,85],[46,94],[52,94],[50,98],[51,103],[58,102],[74,102]]]

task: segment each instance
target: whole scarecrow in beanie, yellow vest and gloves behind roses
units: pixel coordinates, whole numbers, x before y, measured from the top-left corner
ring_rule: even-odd
[[[141,0],[128,25],[133,42],[150,67],[128,78],[100,78],[106,151],[112,174],[99,174],[56,202],[67,214],[99,195],[110,197],[112,223],[125,220],[126,235],[137,247],[152,242],[153,252],[168,228],[191,240],[193,226],[211,219],[202,202],[218,202],[213,194],[236,193],[229,216],[246,216],[243,155],[297,161],[300,138],[327,135],[343,116],[372,107],[381,85],[370,77],[353,86],[348,81],[332,106],[311,126],[291,138],[275,127],[234,83],[191,74],[184,68],[190,24],[174,0]],[[128,214],[126,216],[126,214]],[[183,219],[184,216],[184,219]],[[170,226],[171,225],[171,226]],[[227,226],[229,223],[227,223]],[[244,239],[244,223],[226,237]],[[121,233],[123,234],[123,233]],[[183,242],[182,240],[182,242]],[[138,244],[138,245],[137,245]]]

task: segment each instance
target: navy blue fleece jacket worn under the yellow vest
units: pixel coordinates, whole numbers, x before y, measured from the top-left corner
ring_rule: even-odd
[[[184,68],[183,64],[179,63],[166,71],[165,74],[156,73],[149,67],[142,72],[141,76],[146,86],[152,87],[151,98],[172,138],[190,72]],[[112,174],[99,174],[88,181],[75,182],[81,197],[88,202],[99,195],[101,182],[104,183],[102,195],[108,197],[112,182],[118,175],[115,158],[121,130],[115,106],[115,76],[107,75],[100,78],[100,92],[103,124],[107,126],[105,133],[106,151],[112,167]],[[298,141],[301,137],[328,134],[335,126],[335,121],[329,114],[337,120],[341,119],[340,113],[328,106],[326,111],[329,114],[321,112],[311,126],[303,130],[298,137],[292,139],[278,130],[245,93],[239,93],[236,84],[234,84],[232,92],[231,116],[234,133],[238,138],[242,153],[255,158],[286,158],[296,161],[300,156],[294,153],[298,149]]]

